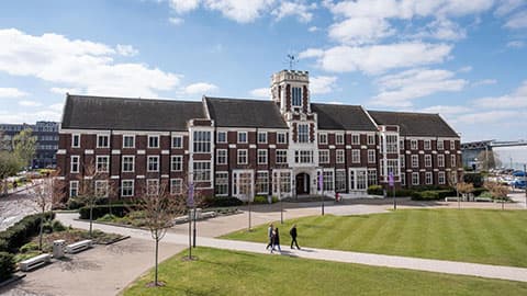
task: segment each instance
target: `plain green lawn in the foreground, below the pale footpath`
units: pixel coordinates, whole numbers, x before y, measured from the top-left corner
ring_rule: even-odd
[[[192,253],[198,261],[181,253],[160,264],[166,286],[146,287],[149,272],[124,295],[527,295],[519,282],[209,248]]]

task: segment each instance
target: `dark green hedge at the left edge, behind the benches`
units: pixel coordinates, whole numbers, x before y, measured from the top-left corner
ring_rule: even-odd
[[[42,214],[25,216],[4,231],[0,232],[0,252],[18,252],[19,248],[27,243],[41,230]],[[53,220],[55,213],[44,213],[44,220]]]

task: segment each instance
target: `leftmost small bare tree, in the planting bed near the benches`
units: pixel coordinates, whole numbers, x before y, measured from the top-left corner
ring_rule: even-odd
[[[38,250],[41,251],[45,213],[52,212],[60,203],[60,195],[57,193],[64,189],[63,183],[56,180],[57,174],[58,172],[53,172],[42,179],[32,180],[33,186],[30,190],[30,194],[33,196],[35,205],[42,215],[38,234]]]

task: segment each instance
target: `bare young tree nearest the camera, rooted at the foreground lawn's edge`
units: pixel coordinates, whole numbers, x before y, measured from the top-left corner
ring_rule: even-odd
[[[179,196],[181,197],[181,196]],[[160,286],[158,281],[158,253],[159,241],[172,227],[173,218],[184,212],[186,198],[170,195],[167,184],[161,182],[146,183],[143,194],[138,197],[137,210],[142,210],[145,217],[145,225],[150,230],[152,238],[156,243],[155,252],[155,278],[154,286]]]

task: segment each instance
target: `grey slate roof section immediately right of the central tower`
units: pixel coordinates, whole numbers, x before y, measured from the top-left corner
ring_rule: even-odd
[[[377,126],[361,106],[313,103],[311,111],[318,114],[319,129],[377,132]]]

